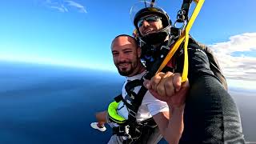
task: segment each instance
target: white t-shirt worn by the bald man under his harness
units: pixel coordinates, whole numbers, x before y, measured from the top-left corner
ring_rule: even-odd
[[[128,99],[129,101],[129,95],[127,95],[125,86],[126,83],[129,81],[133,81],[135,79],[141,79],[143,75],[146,74],[146,71],[144,71],[142,74],[134,75],[133,77],[126,77],[126,82],[122,86],[122,98]],[[138,90],[140,90],[141,86],[137,86],[134,88],[134,93],[138,94]],[[123,118],[128,119],[128,110],[123,102],[120,102],[118,105],[118,114],[121,115]],[[166,104],[166,102],[162,102],[158,100],[157,98],[154,98],[152,94],[150,94],[149,91],[146,92],[143,100],[142,105],[138,108],[138,113],[136,115],[137,122],[142,122],[148,118],[151,118],[153,115],[158,114],[160,112],[169,111],[169,107]]]

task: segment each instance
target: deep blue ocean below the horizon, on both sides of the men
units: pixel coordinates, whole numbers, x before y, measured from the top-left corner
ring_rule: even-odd
[[[0,62],[0,144],[106,143],[94,114],[121,93],[124,78],[99,70]],[[256,91],[230,89],[247,142],[256,143]],[[166,143],[162,140],[159,143]]]

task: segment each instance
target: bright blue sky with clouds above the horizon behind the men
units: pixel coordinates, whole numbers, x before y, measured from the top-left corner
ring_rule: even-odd
[[[134,30],[129,13],[136,2],[1,1],[0,60],[115,70],[110,42]],[[156,2],[174,21],[182,0]],[[256,84],[254,6],[253,0],[206,0],[190,31],[214,50],[234,86],[235,80]]]

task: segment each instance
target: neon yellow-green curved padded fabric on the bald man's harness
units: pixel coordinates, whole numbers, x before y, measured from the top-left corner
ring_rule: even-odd
[[[118,109],[118,104],[119,102],[111,102],[108,109],[107,109],[107,112],[110,116],[110,118],[114,121],[114,122],[117,122],[117,123],[124,123],[126,121],[125,118],[122,118],[122,116],[120,116],[117,112],[117,109]]]

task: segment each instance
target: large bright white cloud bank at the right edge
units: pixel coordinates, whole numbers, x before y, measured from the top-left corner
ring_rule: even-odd
[[[228,42],[215,43],[210,48],[214,50],[226,78],[256,82],[256,57],[250,56],[250,52],[256,50],[256,33],[234,35]],[[243,54],[234,56],[234,52]]]

